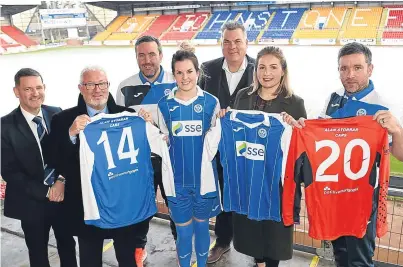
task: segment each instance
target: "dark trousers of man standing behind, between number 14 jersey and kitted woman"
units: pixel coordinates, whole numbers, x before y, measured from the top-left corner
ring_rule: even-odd
[[[151,163],[153,164],[153,169],[154,169],[154,190],[157,193],[157,189],[159,186],[162,198],[164,199],[165,203],[168,204],[168,199],[167,199],[167,196],[165,195],[164,186],[162,184],[162,172],[161,172],[162,160],[160,157],[155,156],[155,157],[151,158]],[[176,240],[177,234],[176,234],[175,223],[172,221],[171,218],[169,218],[169,226],[171,227],[172,235],[174,236],[174,239]],[[148,231],[147,231],[147,233],[148,233]],[[147,233],[145,233],[145,235],[142,237],[140,237],[140,236],[138,237],[138,239],[136,241],[137,248],[145,248],[145,246],[147,244]]]

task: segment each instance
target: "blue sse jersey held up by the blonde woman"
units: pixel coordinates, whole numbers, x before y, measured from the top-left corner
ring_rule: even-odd
[[[281,221],[280,188],[291,131],[279,114],[231,110],[221,119],[225,211]]]

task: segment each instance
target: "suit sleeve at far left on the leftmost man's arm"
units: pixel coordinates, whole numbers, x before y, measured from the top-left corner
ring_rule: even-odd
[[[6,132],[7,123],[2,121],[1,131],[1,176],[10,187],[25,190],[25,193],[35,199],[44,200],[48,187],[37,180],[31,179],[24,172],[17,162],[17,156],[11,144],[10,135]],[[4,131],[3,131],[4,129]],[[29,151],[27,151],[29,153]]]

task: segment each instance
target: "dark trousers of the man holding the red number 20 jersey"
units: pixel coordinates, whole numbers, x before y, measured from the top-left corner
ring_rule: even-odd
[[[372,257],[375,251],[376,210],[372,212],[371,222],[363,238],[342,236],[332,241],[337,267],[374,266]]]

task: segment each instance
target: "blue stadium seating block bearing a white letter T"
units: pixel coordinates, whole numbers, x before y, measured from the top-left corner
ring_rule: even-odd
[[[290,39],[306,8],[276,9],[276,14],[262,39]]]

